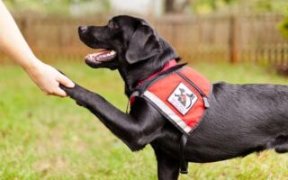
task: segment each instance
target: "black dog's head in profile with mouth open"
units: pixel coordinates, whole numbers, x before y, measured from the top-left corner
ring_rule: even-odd
[[[90,67],[129,66],[162,50],[157,32],[146,21],[126,15],[113,17],[105,26],[80,26],[78,32],[88,47],[103,49],[85,57]]]

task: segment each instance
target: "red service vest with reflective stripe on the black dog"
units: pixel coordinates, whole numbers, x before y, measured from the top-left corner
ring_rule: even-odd
[[[143,93],[133,93],[146,99],[158,112],[171,121],[178,130],[189,135],[200,123],[209,105],[211,83],[191,67],[181,67],[175,72],[159,77]]]

